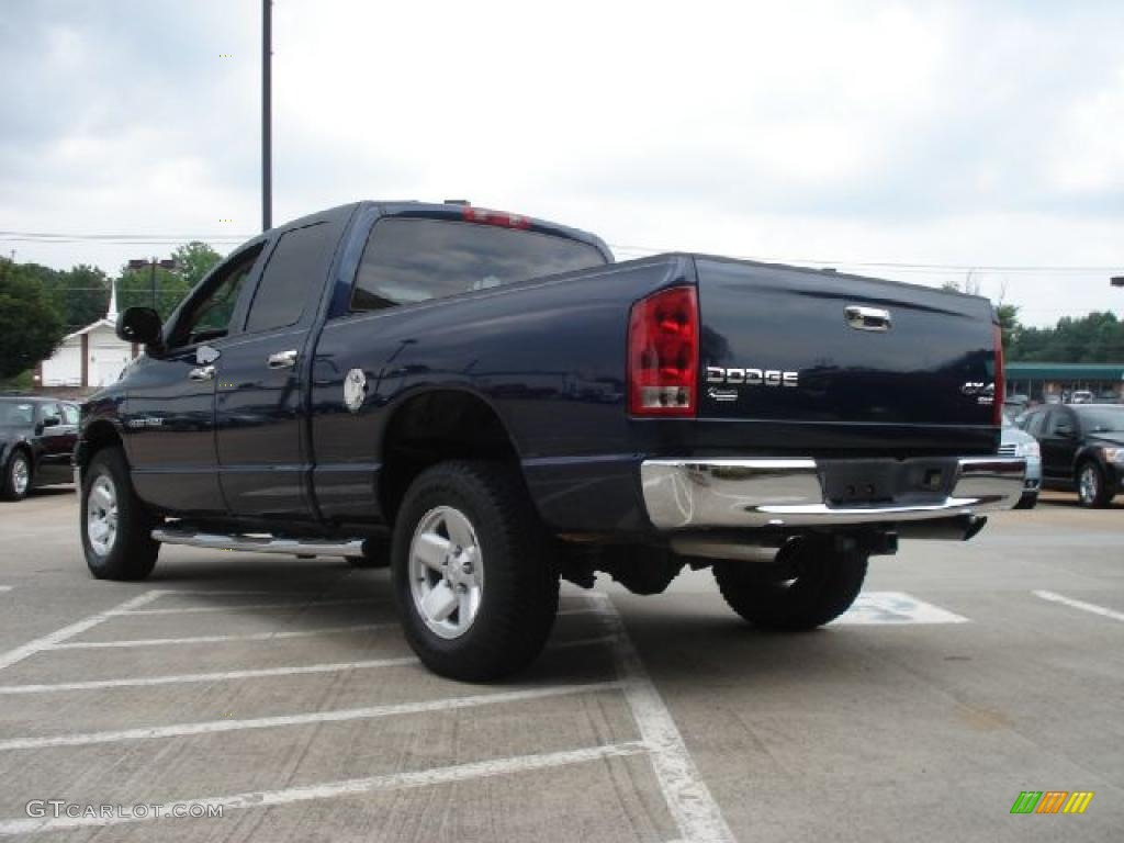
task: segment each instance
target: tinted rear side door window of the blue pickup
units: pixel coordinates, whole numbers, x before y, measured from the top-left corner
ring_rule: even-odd
[[[326,223],[281,235],[254,292],[246,332],[273,330],[300,321],[311,292],[324,289],[335,245],[335,229]]]

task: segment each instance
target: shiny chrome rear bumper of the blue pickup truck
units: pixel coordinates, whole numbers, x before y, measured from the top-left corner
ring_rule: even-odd
[[[950,491],[922,502],[833,506],[812,459],[645,460],[641,486],[658,529],[892,524],[1010,509],[1022,497],[1023,457],[953,462]]]

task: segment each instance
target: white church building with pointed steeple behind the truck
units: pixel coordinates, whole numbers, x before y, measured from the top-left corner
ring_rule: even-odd
[[[109,312],[103,319],[67,335],[55,353],[36,370],[38,387],[98,389],[120,375],[138,348],[117,338],[117,285],[109,294]]]

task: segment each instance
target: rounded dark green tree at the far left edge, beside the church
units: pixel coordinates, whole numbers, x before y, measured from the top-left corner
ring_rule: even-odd
[[[63,317],[35,271],[0,259],[0,379],[49,357],[65,336]]]

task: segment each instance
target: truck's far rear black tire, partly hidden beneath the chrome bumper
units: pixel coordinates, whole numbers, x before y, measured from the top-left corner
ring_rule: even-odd
[[[797,538],[777,562],[718,562],[714,577],[729,607],[754,626],[795,632],[834,620],[859,596],[868,554],[836,551],[830,538]]]

